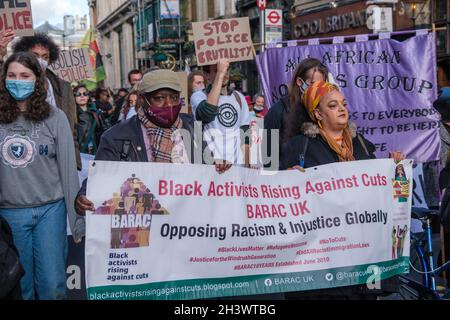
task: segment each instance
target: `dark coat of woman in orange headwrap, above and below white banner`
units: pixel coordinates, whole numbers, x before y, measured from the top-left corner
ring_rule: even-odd
[[[356,160],[375,159],[375,146],[362,135],[353,131],[353,156]],[[305,142],[308,146],[305,152]],[[361,140],[364,141],[362,145]],[[367,152],[366,152],[367,150]],[[304,134],[291,138],[283,148],[283,157],[280,168],[282,170],[300,165],[300,155],[304,156],[304,168],[339,162],[338,155],[330,148],[328,143],[320,136]],[[286,293],[287,299],[371,299],[378,295],[398,292],[398,277],[392,277],[381,281],[381,289],[369,290],[366,285],[347,286],[323,290]]]

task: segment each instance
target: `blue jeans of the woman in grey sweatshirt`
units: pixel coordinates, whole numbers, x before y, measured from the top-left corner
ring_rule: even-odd
[[[64,200],[34,208],[0,209],[25,269],[25,300],[66,298],[67,218]]]

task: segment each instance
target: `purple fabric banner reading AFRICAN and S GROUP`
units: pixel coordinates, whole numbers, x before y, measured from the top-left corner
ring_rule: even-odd
[[[421,33],[419,35],[419,33]],[[288,93],[297,64],[313,57],[333,74],[350,120],[377,147],[378,157],[399,150],[417,162],[439,159],[434,33],[405,41],[378,39],[267,49],[256,62],[269,105]]]

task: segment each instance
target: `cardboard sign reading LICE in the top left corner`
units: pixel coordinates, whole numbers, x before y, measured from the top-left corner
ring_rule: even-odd
[[[0,32],[9,29],[19,37],[34,35],[30,0],[0,1]]]

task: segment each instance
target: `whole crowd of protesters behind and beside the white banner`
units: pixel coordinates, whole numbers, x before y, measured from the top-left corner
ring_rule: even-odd
[[[4,44],[12,38],[3,34],[1,47],[6,48]],[[47,68],[57,57],[53,41],[35,35],[16,42],[12,55],[3,62],[0,128],[6,135],[0,138],[3,145],[11,144],[8,150],[12,153],[3,154],[0,163],[0,217],[11,226],[24,271],[17,274],[20,285],[16,283],[10,297],[65,298],[65,218],[69,217],[74,241],[81,241],[85,212],[95,209],[86,197],[87,181],[80,187],[77,180],[80,153],[109,161],[214,164],[217,172],[224,173],[233,165],[251,167],[248,132],[253,121],[261,119],[269,131],[263,148],[276,146],[263,154],[280,157],[280,163],[272,166],[275,170],[304,171],[333,162],[375,158],[375,146],[349,121],[346,98],[333,76],[313,58],[299,63],[289,95],[270,109],[262,94],[252,97],[231,89],[230,62],[222,59],[189,74],[188,108],[182,113],[182,86],[173,71],[153,68],[143,74],[131,70],[128,89],[89,91],[83,84],[72,88]],[[448,87],[449,67],[442,65],[441,70],[439,86]],[[450,120],[446,116],[450,95],[446,94],[442,91],[435,105],[443,115],[444,172],[450,171]],[[201,145],[178,134],[180,129],[193,132],[194,121],[202,122]],[[280,132],[276,144],[270,141],[274,130]],[[37,152],[30,149],[33,146]],[[202,148],[210,159],[196,161],[188,151],[196,148]],[[390,151],[395,162],[405,159],[398,150]],[[270,167],[270,163],[265,165]],[[443,175],[442,191],[449,182]],[[377,299],[397,289],[398,280],[393,277],[383,281],[379,290],[348,286],[283,297]]]

